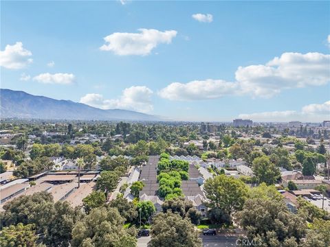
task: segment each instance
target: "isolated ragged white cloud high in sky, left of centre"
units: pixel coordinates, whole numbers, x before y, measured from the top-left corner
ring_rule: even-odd
[[[170,44],[177,35],[177,31],[158,31],[153,29],[139,29],[140,33],[115,32],[104,38],[106,44],[100,47],[101,51],[113,51],[119,56],[140,55],[146,56],[161,43]]]

